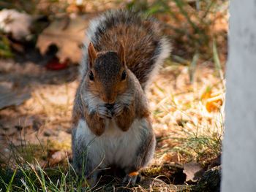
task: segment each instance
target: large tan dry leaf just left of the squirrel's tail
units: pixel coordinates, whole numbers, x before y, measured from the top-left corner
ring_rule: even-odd
[[[45,54],[50,45],[56,45],[59,49],[56,56],[61,63],[67,60],[79,63],[82,55],[80,46],[85,39],[86,23],[87,21],[80,16],[53,20],[37,39],[40,53]]]

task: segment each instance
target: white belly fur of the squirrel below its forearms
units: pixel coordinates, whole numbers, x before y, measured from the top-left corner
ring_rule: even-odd
[[[85,142],[94,166],[100,167],[116,164],[121,168],[129,166],[134,161],[135,155],[143,137],[145,127],[148,126],[146,119],[135,119],[128,131],[121,131],[114,120],[107,120],[105,132],[100,136],[95,136],[85,120],[79,120],[76,130],[76,141]]]

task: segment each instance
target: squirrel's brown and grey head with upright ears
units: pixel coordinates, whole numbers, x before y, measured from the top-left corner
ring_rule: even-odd
[[[89,70],[86,82],[95,96],[100,96],[105,104],[113,104],[118,94],[127,89],[127,67],[125,65],[124,44],[120,43],[117,52],[99,52],[90,42],[88,47]]]

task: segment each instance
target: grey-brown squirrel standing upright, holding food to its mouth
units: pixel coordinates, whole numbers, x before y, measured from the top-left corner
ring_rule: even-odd
[[[109,166],[136,183],[153,158],[145,91],[171,49],[160,29],[153,18],[124,9],[89,24],[72,114],[72,165],[90,183]]]

